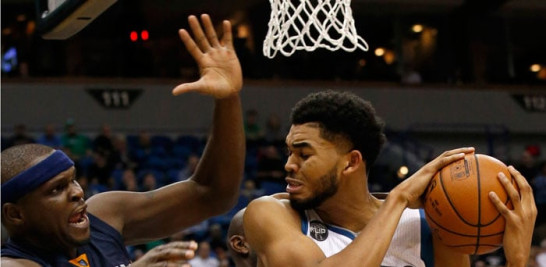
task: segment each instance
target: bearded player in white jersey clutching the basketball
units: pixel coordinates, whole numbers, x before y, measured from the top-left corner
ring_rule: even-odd
[[[474,153],[442,153],[395,187],[385,200],[367,181],[385,136],[371,104],[351,93],[326,91],[300,100],[286,137],[289,200],[262,197],[244,214],[244,233],[258,266],[470,266],[459,254],[431,240],[418,209],[433,175]],[[514,204],[490,199],[506,218],[506,266],[525,266],[536,218],[531,188],[513,167],[520,194],[499,174]]]

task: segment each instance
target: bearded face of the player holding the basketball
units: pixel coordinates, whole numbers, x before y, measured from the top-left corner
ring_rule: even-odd
[[[316,123],[293,125],[286,145],[290,203],[295,209],[315,208],[337,192],[342,155],[334,143],[320,136]]]

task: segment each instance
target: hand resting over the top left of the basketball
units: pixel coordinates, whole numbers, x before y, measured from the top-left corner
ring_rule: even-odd
[[[396,186],[393,191],[401,195],[410,208],[420,208],[423,206],[421,196],[425,192],[430,180],[443,167],[452,162],[463,159],[466,154],[474,153],[473,147],[464,147],[445,151],[440,156],[421,167],[411,177]],[[392,194],[392,191],[391,191]]]

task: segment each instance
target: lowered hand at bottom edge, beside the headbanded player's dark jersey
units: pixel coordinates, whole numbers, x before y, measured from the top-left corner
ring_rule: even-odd
[[[187,261],[195,256],[197,243],[171,242],[160,245],[144,254],[140,259],[131,263],[134,267],[165,267],[165,266],[190,266]]]

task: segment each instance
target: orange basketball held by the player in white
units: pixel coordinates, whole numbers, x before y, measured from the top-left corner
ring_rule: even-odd
[[[432,235],[463,254],[499,249],[505,219],[489,199],[489,192],[497,193],[512,209],[498,180],[499,172],[511,177],[504,163],[481,154],[467,155],[440,170],[425,193],[425,216]],[[516,186],[514,179],[512,184]]]

